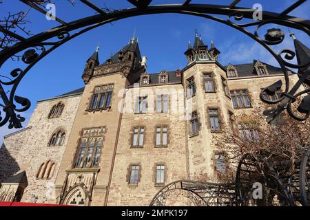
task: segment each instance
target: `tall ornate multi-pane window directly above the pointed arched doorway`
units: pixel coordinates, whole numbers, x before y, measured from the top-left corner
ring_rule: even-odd
[[[97,167],[103,147],[104,127],[83,129],[74,167]]]

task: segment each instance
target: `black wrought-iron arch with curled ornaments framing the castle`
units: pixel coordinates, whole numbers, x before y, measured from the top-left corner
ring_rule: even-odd
[[[43,1],[29,1],[29,0],[20,0],[21,2],[29,5],[34,10],[45,14],[42,6]],[[211,19],[213,21],[217,21],[223,23],[225,25],[229,25],[231,28],[234,28],[247,36],[254,39],[254,41],[260,43],[265,49],[274,57],[276,61],[278,61],[282,72],[285,76],[285,89],[282,92],[282,97],[278,100],[270,101],[266,100],[262,94],[266,92],[269,95],[275,93],[276,89],[280,89],[282,87],[282,82],[277,82],[273,85],[262,90],[260,94],[260,99],[263,102],[269,104],[277,104],[274,109],[267,110],[264,112],[264,115],[267,116],[267,122],[269,123],[283,123],[282,113],[286,110],[291,117],[296,120],[306,120],[309,118],[310,113],[310,95],[309,89],[304,89],[303,91],[298,91],[302,85],[310,86],[309,79],[309,64],[310,58],[306,56],[307,62],[304,63],[304,54],[300,54],[296,48],[296,52],[291,50],[282,50],[280,54],[277,54],[275,51],[271,49],[271,45],[280,45],[285,39],[285,34],[278,28],[270,28],[265,33],[264,38],[261,38],[258,34],[258,30],[265,25],[282,25],[288,28],[294,28],[296,30],[300,30],[310,36],[310,21],[307,19],[300,19],[296,17],[289,16],[289,12],[296,9],[302,3],[307,0],[298,0],[296,3],[293,3],[286,10],[281,13],[276,12],[267,12],[262,11],[262,20],[254,20],[253,14],[256,12],[256,9],[252,8],[242,8],[237,7],[236,5],[241,0],[235,0],[231,4],[228,5],[213,5],[213,4],[195,4],[191,3],[191,0],[186,0],[184,3],[180,4],[166,4],[166,5],[152,5],[152,0],[128,0],[129,3],[133,5],[133,8],[127,9],[119,9],[119,10],[102,10],[99,6],[91,3],[89,0],[80,0],[81,3],[85,4],[87,7],[96,11],[98,14],[92,15],[90,17],[82,17],[76,21],[65,22],[57,17],[54,19],[61,23],[60,26],[52,28],[50,30],[46,30],[45,32],[41,32],[34,36],[30,36],[28,39],[25,39],[23,36],[20,36],[17,33],[10,32],[6,27],[0,26],[0,32],[3,34],[7,34],[8,36],[17,39],[17,43],[14,45],[10,45],[10,47],[5,48],[0,51],[0,68],[3,66],[3,63],[8,61],[8,59],[12,58],[17,54],[23,54],[21,61],[28,65],[24,69],[21,67],[16,67],[10,72],[10,76],[13,77],[12,80],[5,82],[0,80],[0,96],[3,103],[0,104],[1,112],[0,112],[0,126],[3,126],[7,123],[9,129],[12,128],[21,128],[21,122],[25,120],[25,118],[21,117],[20,114],[23,111],[27,111],[30,108],[30,100],[28,98],[24,98],[22,96],[17,96],[15,94],[16,89],[21,82],[23,76],[28,74],[30,69],[41,61],[42,58],[47,56],[50,52],[55,50],[57,47],[63,45],[74,39],[76,36],[79,36],[87,31],[90,31],[94,28],[97,28],[101,25],[105,25],[107,23],[111,23],[113,21],[118,21],[121,19],[126,19],[129,17],[136,17],[145,14],[166,14],[166,13],[174,13],[174,14],[187,14],[193,15],[196,17],[203,17],[205,19]],[[124,0],[125,1],[125,0]],[[227,19],[222,19],[218,16],[227,16]],[[44,19],[43,17],[43,19]],[[242,21],[244,19],[251,19],[250,23],[236,23],[233,21]],[[254,33],[249,32],[246,28],[256,27]],[[300,42],[294,39],[296,44]],[[309,49],[308,49],[309,50]],[[282,55],[285,56],[282,58]],[[308,54],[309,55],[309,54]],[[288,61],[293,60],[297,56],[302,56],[303,59],[298,58],[298,61],[303,61],[302,63],[298,62],[298,64],[289,63]],[[286,61],[287,60],[287,61]],[[293,85],[291,89],[289,83],[289,72],[288,68],[298,69],[298,82]],[[10,89],[10,94],[7,94],[4,86],[12,87]],[[293,109],[293,104],[296,104],[296,100],[298,98],[302,98],[301,103],[299,104],[297,110]],[[19,106],[19,107],[18,107]],[[300,116],[298,113],[303,114]]]

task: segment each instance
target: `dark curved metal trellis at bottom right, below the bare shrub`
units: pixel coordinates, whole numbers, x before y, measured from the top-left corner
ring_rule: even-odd
[[[257,186],[262,186],[261,197],[255,197]],[[176,190],[183,192],[181,197],[171,196]],[[270,153],[245,155],[238,164],[235,183],[174,181],[159,190],[149,205],[175,205],[178,199],[194,206],[309,206],[310,150],[300,150],[294,160]]]

